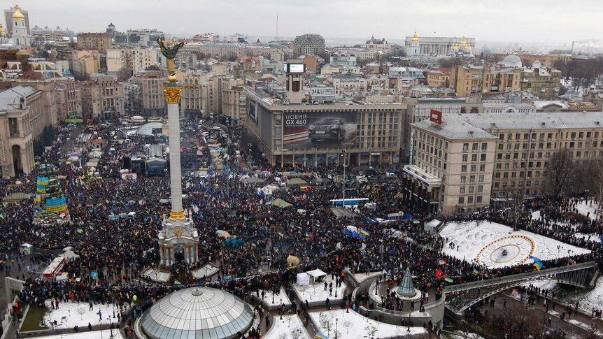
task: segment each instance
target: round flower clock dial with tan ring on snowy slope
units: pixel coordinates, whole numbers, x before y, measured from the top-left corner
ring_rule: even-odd
[[[504,236],[482,247],[476,257],[487,268],[524,264],[534,254],[534,240],[527,236]]]

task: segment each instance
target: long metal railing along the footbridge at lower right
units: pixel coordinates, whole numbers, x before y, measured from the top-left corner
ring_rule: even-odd
[[[521,282],[523,280],[528,280],[528,279],[534,278],[534,277],[544,277],[546,275],[555,275],[555,274],[559,274],[559,273],[581,271],[581,270],[584,270],[587,268],[596,268],[596,267],[597,267],[596,261],[588,261],[586,263],[581,263],[581,264],[574,264],[574,265],[568,265],[568,266],[562,266],[562,267],[556,267],[556,268],[546,268],[544,270],[536,271],[536,272],[518,273],[518,274],[508,275],[508,276],[504,276],[504,277],[495,277],[493,279],[488,279],[488,280],[465,282],[464,284],[452,285],[450,287],[447,287],[447,289],[448,289],[448,292],[466,291],[468,289],[490,287],[490,286],[495,286],[497,284],[502,284],[502,283]]]

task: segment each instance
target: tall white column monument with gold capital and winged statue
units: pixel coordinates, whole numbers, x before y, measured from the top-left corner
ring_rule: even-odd
[[[176,81],[173,58],[184,43],[157,39],[161,52],[166,57],[169,75],[163,86],[167,101],[169,131],[169,178],[171,190],[171,212],[164,217],[162,230],[157,234],[160,266],[174,264],[176,253],[183,254],[187,263],[199,261],[199,233],[192,222],[192,214],[185,217],[182,207],[182,172],[180,168],[180,113],[178,103],[182,86]],[[167,45],[167,47],[166,47]]]

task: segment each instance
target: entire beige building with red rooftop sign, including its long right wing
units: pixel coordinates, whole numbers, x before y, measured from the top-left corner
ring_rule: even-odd
[[[568,150],[582,165],[603,159],[602,122],[603,112],[444,114],[441,124],[423,120],[412,125],[406,192],[437,201],[444,214],[483,208],[490,194],[545,194],[548,161],[555,151]],[[451,147],[451,136],[462,147]]]

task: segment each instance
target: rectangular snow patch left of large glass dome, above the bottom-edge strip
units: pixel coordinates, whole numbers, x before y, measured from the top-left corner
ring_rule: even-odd
[[[87,329],[88,323],[92,325],[98,325],[111,324],[111,322],[118,322],[118,318],[113,319],[113,307],[111,305],[92,305],[94,309],[92,311],[89,311],[90,306],[88,305],[88,303],[70,302],[59,303],[59,309],[52,310],[50,302],[50,299],[46,301],[46,306],[48,306],[50,312],[46,313],[45,320],[46,322],[48,322],[48,316],[50,315],[50,321],[54,322],[55,320],[57,320],[57,326],[59,327],[59,329],[73,329],[73,326],[76,325],[78,325],[80,329]],[[101,321],[99,321],[99,310],[101,311],[101,315],[103,318]]]

